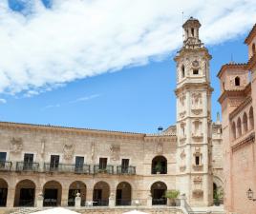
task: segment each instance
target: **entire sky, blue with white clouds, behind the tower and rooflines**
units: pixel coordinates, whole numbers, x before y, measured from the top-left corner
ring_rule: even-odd
[[[216,120],[216,75],[247,61],[254,0],[0,1],[0,120],[146,133],[174,125],[173,58],[190,16],[213,56]]]

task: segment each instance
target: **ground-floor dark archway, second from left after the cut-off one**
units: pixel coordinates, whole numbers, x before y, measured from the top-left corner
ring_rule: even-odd
[[[14,206],[34,206],[35,185],[31,180],[20,181],[15,187]]]

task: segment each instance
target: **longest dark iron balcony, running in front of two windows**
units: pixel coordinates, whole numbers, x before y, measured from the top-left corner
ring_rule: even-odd
[[[46,172],[70,172],[75,174],[90,174],[90,165],[66,165],[45,163]]]

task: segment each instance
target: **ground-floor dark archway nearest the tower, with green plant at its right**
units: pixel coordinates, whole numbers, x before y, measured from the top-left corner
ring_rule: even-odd
[[[167,203],[164,197],[166,190],[167,186],[162,182],[156,182],[151,185],[152,205],[164,205]]]

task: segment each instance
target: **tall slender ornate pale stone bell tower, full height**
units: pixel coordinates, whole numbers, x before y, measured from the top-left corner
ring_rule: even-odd
[[[211,55],[199,37],[200,22],[190,17],[182,26],[183,46],[177,63],[177,188],[191,205],[212,204]]]

